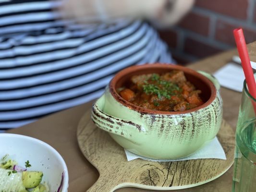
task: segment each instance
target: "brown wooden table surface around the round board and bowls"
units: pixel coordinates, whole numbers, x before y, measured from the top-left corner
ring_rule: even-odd
[[[256,42],[248,45],[251,60],[256,61]],[[221,66],[231,61],[236,55],[235,50],[227,51],[205,60],[200,60],[190,68],[205,72],[215,72]],[[223,117],[235,130],[241,94],[226,88],[221,88],[223,98]],[[53,146],[64,158],[69,171],[69,191],[85,192],[98,179],[98,171],[80,152],[76,139],[77,124],[93,102],[70,108],[48,117],[42,118],[24,127],[10,130],[9,133],[28,135],[40,139]],[[232,188],[232,169],[230,168],[220,178],[207,184],[179,192],[229,192]],[[148,190],[123,188],[117,192],[146,192]]]

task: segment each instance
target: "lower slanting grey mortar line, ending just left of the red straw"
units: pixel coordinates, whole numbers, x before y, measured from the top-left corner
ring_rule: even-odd
[[[225,43],[221,43],[221,42],[217,41],[216,39],[210,39],[207,36],[201,36],[201,35],[199,35],[195,32],[189,31],[189,30],[184,29],[184,28],[174,26],[174,27],[172,27],[172,29],[174,29],[178,32],[183,31],[184,36],[192,37],[193,39],[195,39],[195,40],[197,40],[201,43],[207,44],[209,46],[213,46],[215,48],[224,49],[224,50],[233,48],[232,46],[230,46],[228,44],[225,44]]]

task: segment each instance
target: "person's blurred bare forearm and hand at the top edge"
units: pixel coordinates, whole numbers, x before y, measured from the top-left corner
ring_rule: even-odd
[[[130,17],[176,23],[193,5],[194,0],[63,0],[64,17],[82,22],[110,22],[115,18]]]

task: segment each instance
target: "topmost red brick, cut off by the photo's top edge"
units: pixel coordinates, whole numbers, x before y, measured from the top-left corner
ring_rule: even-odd
[[[196,0],[195,5],[239,19],[247,18],[248,0]]]

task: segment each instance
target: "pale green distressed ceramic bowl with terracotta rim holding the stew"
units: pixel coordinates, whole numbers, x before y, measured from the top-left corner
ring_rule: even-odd
[[[118,95],[133,75],[182,70],[204,104],[186,111],[168,112],[137,107]],[[170,64],[146,64],[117,73],[93,106],[92,120],[128,151],[154,159],[178,159],[193,154],[218,133],[222,120],[219,83],[206,72]]]

